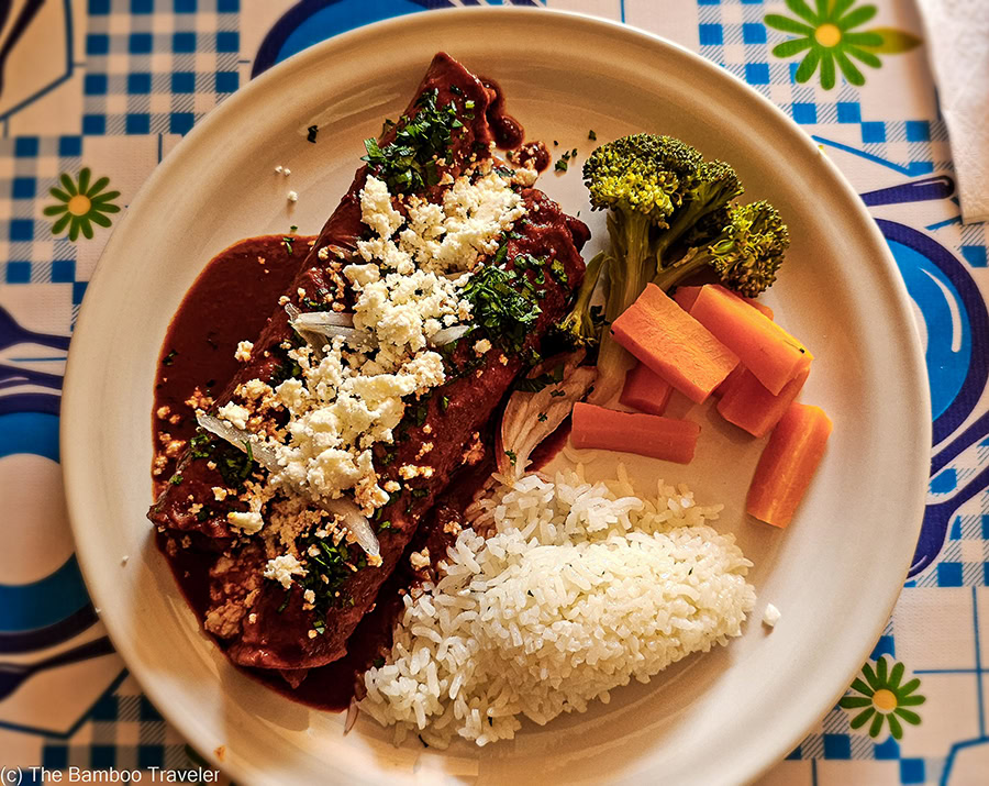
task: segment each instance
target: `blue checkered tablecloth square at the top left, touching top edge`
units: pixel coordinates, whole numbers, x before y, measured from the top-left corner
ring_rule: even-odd
[[[89,0],[82,133],[185,134],[240,84],[240,0]]]

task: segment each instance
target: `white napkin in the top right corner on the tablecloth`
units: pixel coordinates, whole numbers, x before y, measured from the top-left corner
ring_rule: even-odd
[[[918,0],[962,219],[989,221],[989,0]]]

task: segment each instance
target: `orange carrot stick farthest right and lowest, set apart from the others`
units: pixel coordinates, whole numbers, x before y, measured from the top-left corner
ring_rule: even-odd
[[[831,428],[820,407],[790,405],[756,466],[745,503],[749,514],[774,527],[790,523],[824,455]]]

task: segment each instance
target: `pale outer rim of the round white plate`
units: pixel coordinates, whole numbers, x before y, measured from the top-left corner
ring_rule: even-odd
[[[92,291],[98,291],[98,287],[100,287],[102,279],[109,275],[107,273],[108,265],[104,264],[104,261],[115,255],[116,245],[122,242],[120,239],[124,234],[121,230],[132,223],[133,215],[135,213],[143,212],[143,210],[141,209],[144,208],[144,202],[148,201],[148,195],[153,193],[156,190],[159,181],[165,180],[169,176],[169,171],[178,165],[178,162],[180,162],[184,151],[191,150],[196,144],[199,144],[201,140],[209,139],[212,126],[218,125],[227,114],[235,114],[241,111],[242,104],[247,104],[248,102],[251,102],[253,100],[254,93],[262,91],[263,89],[268,87],[269,84],[274,84],[277,80],[280,80],[290,75],[293,69],[301,70],[309,65],[322,60],[323,58],[332,57],[334,48],[351,45],[355,42],[359,42],[360,38],[376,38],[378,36],[387,36],[390,34],[402,34],[403,32],[407,32],[402,31],[403,27],[414,30],[415,27],[425,25],[427,29],[431,24],[431,21],[437,19],[442,19],[443,21],[448,22],[451,18],[463,18],[465,20],[468,18],[474,18],[475,21],[484,20],[484,18],[486,16],[490,16],[497,20],[515,18],[516,20],[520,20],[522,23],[524,23],[524,21],[527,18],[531,18],[533,14],[549,14],[557,18],[557,21],[560,24],[569,23],[576,25],[586,25],[588,29],[597,29],[593,32],[604,36],[634,40],[646,46],[674,49],[680,56],[684,56],[691,60],[693,66],[705,73],[705,76],[714,80],[720,80],[723,84],[731,84],[733,86],[732,89],[744,95],[749,103],[754,102],[754,104],[760,111],[768,112],[770,115],[775,117],[777,122],[782,121],[782,124],[787,126],[790,132],[791,140],[797,144],[801,144],[807,150],[808,154],[818,155],[819,153],[819,150],[813,140],[802,129],[800,129],[800,126],[778,106],[773,103],[773,101],[770,101],[767,97],[763,96],[755,88],[747,85],[726,69],[715,65],[714,63],[711,63],[702,55],[693,52],[692,49],[662,35],[625,24],[623,22],[604,19],[579,11],[524,7],[459,7],[429,11],[424,10],[423,12],[393,16],[387,20],[374,22],[371,24],[363,25],[360,27],[356,27],[345,33],[335,35],[331,38],[326,38],[308,47],[307,49],[303,49],[302,52],[297,53],[296,55],[292,55],[286,60],[266,70],[258,77],[252,79],[221,104],[214,107],[211,111],[209,111],[208,114],[199,123],[197,123],[188,134],[184,136],[184,139],[169,153],[169,155],[155,167],[155,169],[144,181],[144,184],[142,184],[134,199],[131,201],[126,214],[123,217],[123,220],[119,222],[116,226],[114,226],[113,232],[109,237],[103,252],[100,255],[100,259],[93,270],[93,275],[90,278],[87,291],[88,297],[84,298],[84,302],[80,307],[80,311],[76,320],[76,326],[73,331],[73,343],[68,353],[65,381],[63,385],[59,443],[66,503],[69,523],[76,544],[76,554],[84,579],[86,582],[87,590],[90,593],[93,605],[97,608],[101,606],[101,598],[105,597],[103,595],[102,588],[100,588],[100,582],[97,578],[100,571],[100,553],[90,549],[85,538],[80,538],[80,535],[85,533],[85,523],[80,519],[80,513],[76,512],[81,510],[82,507],[81,505],[77,505],[77,502],[86,497],[88,490],[88,484],[86,483],[85,476],[88,458],[90,456],[86,452],[85,446],[81,445],[80,442],[74,440],[76,423],[80,422],[81,419],[87,416],[87,411],[85,409],[80,409],[80,406],[77,406],[76,403],[77,401],[81,400],[85,395],[85,388],[87,385],[87,369],[82,365],[84,362],[79,359],[80,353],[73,353],[71,350],[79,345],[77,336],[84,335],[87,340],[89,339],[89,332],[86,330],[86,325],[89,324],[90,321],[92,321],[90,318],[90,313],[96,308],[96,306],[92,305],[96,302],[96,298],[92,297]],[[922,408],[922,411],[929,413],[931,409],[931,400],[924,364],[923,347],[921,345],[920,334],[916,330],[914,317],[912,314],[912,309],[910,306],[911,300],[907,291],[905,284],[897,269],[892,253],[889,250],[881,232],[879,231],[875,219],[859,199],[857,191],[852,187],[848,179],[833,162],[831,162],[826,156],[821,156],[821,159],[824,165],[822,176],[825,171],[829,174],[831,180],[829,182],[829,186],[841,191],[845,200],[849,203],[849,206],[853,207],[853,210],[856,214],[855,218],[859,220],[865,235],[869,237],[875,250],[878,252],[877,257],[881,259],[881,263],[877,259],[877,272],[881,269],[885,274],[886,284],[889,287],[888,292],[894,300],[892,305],[896,306],[897,310],[902,315],[908,318],[905,320],[908,324],[913,326],[913,330],[909,331],[909,336],[904,336],[904,344],[909,345],[909,351],[903,353],[902,358],[904,365],[909,366],[909,372],[904,372],[904,374],[912,377],[914,383],[916,383],[915,389],[912,392],[919,397],[918,403]],[[904,348],[907,347],[904,346]],[[79,411],[76,411],[77,409]],[[807,735],[808,731],[816,726],[820,720],[831,710],[837,699],[847,689],[847,686],[851,684],[862,664],[868,660],[868,655],[875,646],[875,640],[880,635],[885,626],[885,621],[892,612],[892,609],[896,606],[896,602],[903,588],[903,582],[905,580],[910,568],[910,556],[913,553],[913,549],[923,523],[923,511],[926,505],[926,479],[929,476],[927,465],[931,450],[931,419],[930,417],[925,417],[919,424],[916,440],[923,451],[926,452],[922,452],[922,456],[920,460],[914,460],[913,463],[915,464],[915,466],[904,467],[912,469],[918,475],[916,488],[913,494],[913,505],[910,506],[914,512],[914,516],[911,519],[913,523],[909,531],[903,535],[904,541],[909,543],[909,551],[904,552],[901,579],[897,583],[896,586],[890,585],[890,589],[888,590],[885,598],[882,598],[880,601],[875,602],[875,606],[884,611],[884,615],[881,617],[877,616],[878,621],[875,626],[875,635],[862,645],[859,656],[855,660],[854,665],[849,667],[847,678],[843,682],[841,688],[835,690],[833,700],[831,700],[827,705],[821,707],[820,709],[814,709],[810,712],[803,712],[802,717],[805,719],[805,723],[802,722],[794,724],[793,728],[797,731],[791,733],[789,737],[780,737],[778,740],[776,740],[775,743],[773,741],[764,742],[759,746],[762,754],[751,755],[745,760],[748,763],[753,764],[752,768],[743,774],[743,777],[746,782],[755,781],[760,775],[766,773],[770,767],[782,761],[782,759],[790,751],[792,751]],[[114,649],[124,660],[130,673],[138,682],[142,690],[151,697],[153,704],[156,707],[163,707],[163,715],[165,715],[164,708],[168,707],[169,705],[166,691],[164,690],[164,688],[159,689],[159,686],[154,680],[154,678],[152,678],[152,675],[145,672],[141,660],[135,657],[134,652],[130,645],[130,641],[126,636],[123,635],[122,629],[118,627],[116,621],[112,617],[101,617],[101,619],[107,628],[109,636],[113,642]],[[749,617],[749,624],[752,624],[754,620],[752,620],[752,617]],[[197,751],[203,754],[203,756],[218,770],[229,774],[235,779],[251,782],[249,773],[246,770],[242,770],[238,764],[236,764],[235,762],[223,762],[216,756],[214,751],[200,750],[196,742],[192,742],[197,729],[195,728],[196,723],[191,719],[187,719],[180,713],[168,713],[167,721],[181,733],[184,739],[190,745],[192,745]]]

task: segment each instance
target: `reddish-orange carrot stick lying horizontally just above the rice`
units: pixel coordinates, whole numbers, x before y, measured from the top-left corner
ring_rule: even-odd
[[[574,447],[600,447],[689,464],[700,425],[658,414],[616,412],[592,403],[574,405]]]

